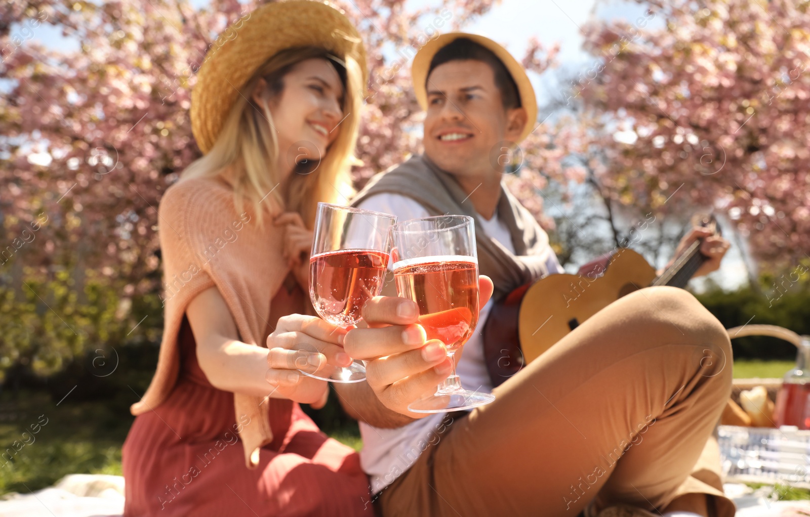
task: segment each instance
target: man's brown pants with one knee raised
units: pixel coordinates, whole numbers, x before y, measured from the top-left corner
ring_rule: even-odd
[[[663,511],[710,494],[733,517],[712,437],[731,342],[685,290],[617,300],[456,418],[380,495],[389,515],[565,515],[592,499]]]

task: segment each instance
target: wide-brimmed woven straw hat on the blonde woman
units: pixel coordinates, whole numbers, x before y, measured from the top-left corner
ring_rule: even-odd
[[[211,150],[240,95],[259,66],[281,50],[320,47],[360,65],[368,81],[360,34],[343,11],[328,2],[271,2],[243,16],[208,50],[191,91],[191,131],[203,154]]]

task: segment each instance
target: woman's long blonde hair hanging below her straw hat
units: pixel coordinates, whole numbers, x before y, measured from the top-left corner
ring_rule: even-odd
[[[343,92],[344,119],[340,132],[326,155],[314,167],[296,166],[283,189],[277,159],[279,142],[270,110],[256,106],[250,96],[260,78],[276,94],[283,88],[283,76],[301,61],[314,57],[330,58],[325,49],[300,47],[276,53],[251,76],[241,88],[236,102],[225,119],[214,146],[207,155],[194,160],[181,173],[181,180],[230,175],[237,213],[249,202],[262,224],[262,205],[269,204],[271,214],[294,211],[308,227],[313,227],[318,201],[345,201],[352,194],[349,176],[360,125],[362,105],[362,71],[352,57],[345,59]],[[268,201],[270,201],[268,203]]]

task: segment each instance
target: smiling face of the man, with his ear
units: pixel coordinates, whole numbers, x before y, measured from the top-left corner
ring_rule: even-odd
[[[500,174],[492,149],[520,136],[526,110],[504,108],[492,68],[483,61],[448,61],[433,69],[426,87],[425,155],[454,175]]]

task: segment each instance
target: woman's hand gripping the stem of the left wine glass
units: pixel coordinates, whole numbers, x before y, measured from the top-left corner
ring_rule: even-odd
[[[352,358],[343,351],[347,330],[315,316],[291,314],[279,318],[275,332],[267,337],[266,381],[271,396],[287,398],[319,409],[326,404],[329,385],[298,370],[323,375],[331,367],[347,367]]]

